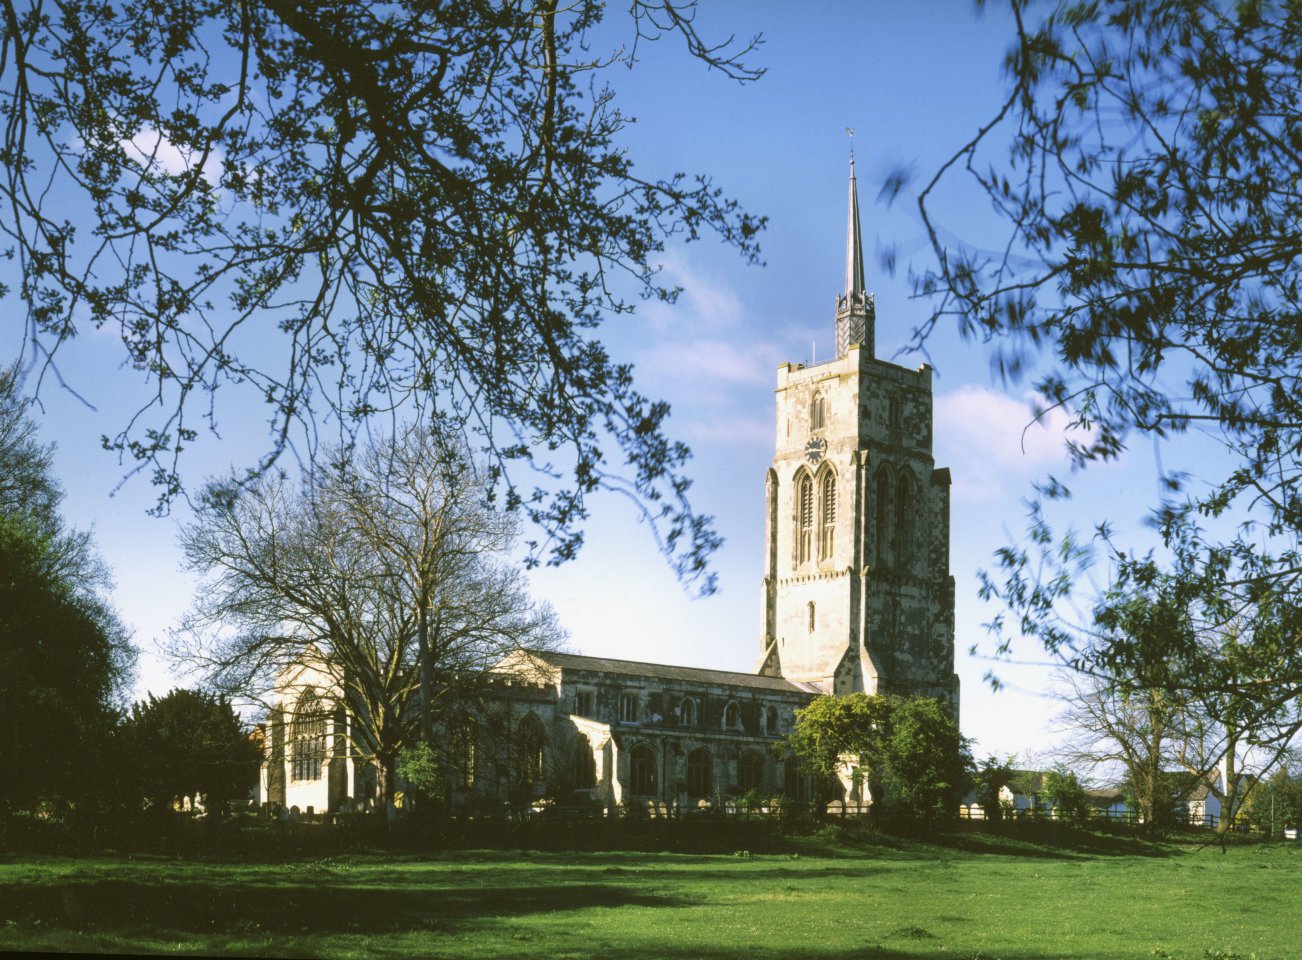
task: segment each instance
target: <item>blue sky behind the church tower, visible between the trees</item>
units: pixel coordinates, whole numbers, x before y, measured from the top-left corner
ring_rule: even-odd
[[[631,42],[618,10],[592,40],[594,53]],[[633,70],[615,68],[617,103],[637,117],[625,138],[644,175],[708,172],[727,193],[769,218],[764,267],[703,238],[674,245],[664,268],[684,293],[674,306],[650,305],[604,330],[612,353],[637,365],[644,392],[673,405],[671,431],[695,452],[694,503],[717,518],[727,538],[716,559],[719,593],[691,599],[656,552],[650,533],[618,496],[598,498],[582,556],[534,574],[535,593],[551,600],[579,653],[727,670],[750,670],[759,655],[763,477],[773,452],[773,387],[784,361],[832,352],[833,298],[844,276],[848,138],[855,130],[863,201],[867,285],[876,293],[878,354],[897,356],[927,315],[911,298],[910,266],[930,247],[913,195],[893,206],[874,202],[896,165],[927,178],[997,109],[1001,64],[1010,39],[1003,13],[978,17],[961,1],[910,4],[716,3],[700,13],[707,38],[766,38],[754,61],[763,79],[737,85],[707,72],[674,38],[639,48]],[[917,182],[917,181],[915,181]],[[961,240],[993,242],[988,203],[975,191],[947,189],[935,202],[943,228]],[[875,250],[894,246],[894,276]],[[17,349],[17,324],[10,330]],[[0,346],[5,344],[0,343]],[[967,647],[984,643],[982,624],[995,612],[976,599],[978,568],[1022,529],[1030,482],[1066,472],[1062,418],[1030,426],[1027,384],[991,375],[988,353],[939,331],[928,343],[936,367],[936,462],[953,473],[950,567],[957,581],[958,672],[962,720],[978,753],[1043,750],[1059,706],[1048,696],[1047,667],[997,667],[1006,686],[993,694],[991,668]],[[154,491],[146,477],[118,485],[121,465],[99,436],[122,425],[145,384],[118,366],[105,335],[82,337],[62,360],[65,376],[92,406],[46,383],[44,436],[59,444],[57,469],[68,487],[72,522],[94,528],[117,578],[116,602],[137,642],[148,651],[185,611],[193,580],[178,569],[177,526],[146,516]],[[263,414],[217,396],[220,436],[207,436],[186,464],[191,488],[203,475],[245,465],[264,449]],[[92,409],[94,408],[94,409]],[[1163,451],[1164,464],[1203,456],[1198,444]],[[1083,529],[1109,520],[1124,535],[1139,528],[1156,500],[1151,447],[1118,464],[1091,468],[1073,486],[1066,518]],[[292,466],[292,464],[290,464]],[[1035,649],[1023,660],[1044,660]],[[141,692],[184,683],[171,664],[146,655]]]

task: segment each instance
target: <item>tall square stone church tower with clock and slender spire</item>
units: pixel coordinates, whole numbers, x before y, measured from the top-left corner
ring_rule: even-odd
[[[931,367],[874,356],[850,158],[836,358],[777,369],[759,672],[828,693],[924,694],[958,715],[949,470],[931,456]]]

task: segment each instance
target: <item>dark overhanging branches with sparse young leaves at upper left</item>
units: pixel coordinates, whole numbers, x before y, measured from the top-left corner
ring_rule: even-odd
[[[7,0],[0,228],[26,349],[44,374],[79,333],[121,339],[150,400],[104,442],[152,473],[160,507],[216,427],[219,388],[267,404],[254,474],[315,449],[318,425],[348,439],[372,414],[437,408],[540,526],[535,556],[572,556],[587,496],[613,487],[681,576],[706,577],[719,539],[687,501],[687,448],[594,331],[676,296],[656,276],[667,237],[715,233],[755,261],[763,220],[706,176],[635,169],[605,77],[677,34],[754,79],[758,38],[710,44],[693,3],[635,0],[631,43],[605,55],[603,14]],[[512,462],[546,479],[508,479]]]

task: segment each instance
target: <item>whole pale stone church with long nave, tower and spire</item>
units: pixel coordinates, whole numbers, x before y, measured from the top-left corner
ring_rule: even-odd
[[[957,719],[949,472],[931,453],[931,367],[875,356],[853,156],[835,322],[833,360],[777,370],[755,672],[512,655],[483,709],[447,729],[454,810],[506,797],[680,809],[751,792],[807,798],[807,778],[773,745],[814,697],[921,694]],[[301,671],[277,689],[272,715],[284,719],[268,729],[260,798],[336,810],[372,796],[368,763],[344,746],[348,718],[301,709],[328,699],[322,681]]]

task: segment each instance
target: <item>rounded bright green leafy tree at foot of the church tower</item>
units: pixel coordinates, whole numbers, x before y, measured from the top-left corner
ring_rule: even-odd
[[[796,713],[786,745],[824,778],[846,762],[866,769],[881,812],[927,822],[957,813],[973,765],[958,726],[928,697],[818,697]]]

